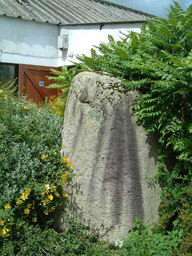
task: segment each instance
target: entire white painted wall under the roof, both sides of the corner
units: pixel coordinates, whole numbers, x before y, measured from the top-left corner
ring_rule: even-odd
[[[143,23],[104,25],[57,26],[34,20],[0,16],[0,62],[51,67],[72,65],[77,54],[90,56],[93,45],[115,40],[128,31],[140,32]],[[58,35],[69,35],[69,48],[58,50]],[[69,55],[73,54],[73,57]]]

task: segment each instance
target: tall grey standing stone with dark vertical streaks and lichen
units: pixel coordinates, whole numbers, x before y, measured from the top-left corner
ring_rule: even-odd
[[[157,144],[136,125],[131,106],[136,93],[106,75],[82,72],[71,84],[65,109],[63,156],[76,179],[59,212],[120,241],[135,217],[158,219],[159,186],[147,178],[157,171]],[[58,220],[58,219],[57,219]]]

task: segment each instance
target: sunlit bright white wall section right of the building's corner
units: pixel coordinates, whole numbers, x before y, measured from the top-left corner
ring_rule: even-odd
[[[100,30],[100,25],[80,25],[80,26],[60,26],[60,35],[69,35],[69,48],[59,52],[59,66],[72,65],[76,60],[76,54],[90,56],[93,45],[98,46],[100,42],[108,42],[108,35],[112,35],[115,40],[127,31],[140,32],[143,23],[110,24],[104,25]],[[73,53],[74,57],[69,57]],[[68,56],[68,57],[66,57]]]

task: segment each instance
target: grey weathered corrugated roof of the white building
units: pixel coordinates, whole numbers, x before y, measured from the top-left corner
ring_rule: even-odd
[[[63,25],[142,22],[153,17],[105,0],[0,0],[0,15]]]

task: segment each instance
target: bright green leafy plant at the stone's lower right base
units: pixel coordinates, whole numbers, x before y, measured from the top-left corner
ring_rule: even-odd
[[[149,227],[136,218],[132,231],[123,242],[123,256],[171,256],[178,251],[178,243],[182,242],[182,230],[168,231],[168,235],[152,233]]]

